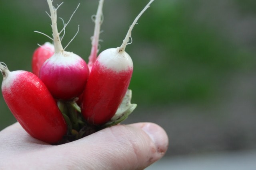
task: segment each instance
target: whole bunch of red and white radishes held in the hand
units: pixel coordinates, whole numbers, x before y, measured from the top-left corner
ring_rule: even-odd
[[[45,43],[36,49],[32,58],[33,73],[10,72],[6,64],[0,62],[4,100],[32,137],[50,144],[66,143],[116,125],[135,109],[136,104],[130,103],[131,90],[128,90],[133,63],[124,50],[138,18],[154,0],[150,0],[134,20],[122,45],[106,49],[97,57],[103,1],[99,2],[94,20],[88,65],[62,47],[60,34],[64,35],[68,23],[58,31],[56,12],[61,4],[54,8],[52,0],[47,0],[50,8],[47,14],[52,21],[53,38],[50,39],[54,45]]]

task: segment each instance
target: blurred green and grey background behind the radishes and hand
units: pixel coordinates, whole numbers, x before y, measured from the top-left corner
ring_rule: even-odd
[[[61,0],[54,0],[60,4]],[[64,0],[66,51],[88,61],[96,0]],[[118,47],[147,0],[106,0],[100,52]],[[0,0],[0,61],[31,71],[32,53],[50,41],[46,0]],[[62,21],[59,21],[59,27]],[[125,123],[152,121],[170,137],[166,155],[256,149],[256,1],[155,0],[126,47],[137,109]],[[0,78],[2,81],[2,77]],[[0,97],[0,130],[15,122]]]

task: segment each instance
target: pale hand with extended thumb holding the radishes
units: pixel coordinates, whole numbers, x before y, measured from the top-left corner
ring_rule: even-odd
[[[0,169],[143,170],[167,148],[166,132],[154,123],[115,125],[62,145],[34,139],[14,123],[0,131]]]

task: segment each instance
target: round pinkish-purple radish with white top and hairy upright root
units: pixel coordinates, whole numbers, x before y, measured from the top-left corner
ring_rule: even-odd
[[[72,100],[84,90],[89,75],[88,66],[78,55],[64,51],[65,48],[63,49],[62,47],[60,33],[67,24],[64,25],[64,28],[59,33],[56,14],[58,8],[52,6],[52,0],[47,0],[47,2],[50,8],[49,16],[52,20],[55,51],[54,55],[41,67],[39,77],[54,98]]]

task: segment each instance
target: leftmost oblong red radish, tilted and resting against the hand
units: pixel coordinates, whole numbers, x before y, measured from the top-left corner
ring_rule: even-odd
[[[2,94],[10,111],[34,138],[55,144],[67,133],[67,125],[44,83],[28,71],[12,71],[0,62]]]

